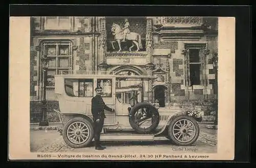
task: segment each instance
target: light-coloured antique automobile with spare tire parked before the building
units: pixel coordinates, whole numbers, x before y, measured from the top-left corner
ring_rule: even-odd
[[[105,111],[100,139],[104,141],[154,141],[163,136],[179,146],[192,145],[199,136],[200,116],[180,108],[161,110],[152,99],[149,82],[154,76],[103,74],[99,71],[69,71],[55,75],[55,94],[59,102],[60,135],[72,148],[82,148],[93,140],[91,99],[94,88],[103,88]]]

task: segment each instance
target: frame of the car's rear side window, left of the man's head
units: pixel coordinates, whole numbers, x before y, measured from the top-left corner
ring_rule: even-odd
[[[78,83],[78,95],[76,96],[74,94],[74,96],[71,96],[67,93],[67,90],[66,90],[66,80],[77,80],[77,83]],[[88,81],[87,81],[88,80]],[[86,96],[85,92],[83,91],[83,96],[80,96],[80,83],[83,82],[83,90],[84,90],[84,84],[86,82],[90,82],[92,83],[92,95],[90,96]],[[71,98],[93,98],[94,97],[94,79],[93,78],[90,78],[90,79],[78,79],[78,78],[65,78],[64,79],[64,90],[65,90],[65,93],[68,97],[71,97]],[[73,88],[73,92],[74,92],[74,88]]]

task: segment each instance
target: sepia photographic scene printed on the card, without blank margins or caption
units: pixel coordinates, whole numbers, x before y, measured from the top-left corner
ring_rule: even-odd
[[[217,70],[218,17],[31,17],[31,152],[216,153]]]

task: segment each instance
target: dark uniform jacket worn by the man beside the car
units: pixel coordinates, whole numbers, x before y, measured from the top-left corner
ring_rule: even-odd
[[[105,105],[100,95],[95,95],[92,99],[92,114],[94,119],[99,119],[100,117],[105,118],[104,110],[112,111],[112,108]]]

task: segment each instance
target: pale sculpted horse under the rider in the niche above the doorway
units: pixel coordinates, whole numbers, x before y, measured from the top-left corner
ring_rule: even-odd
[[[122,32],[122,28],[117,25],[117,23],[113,23],[112,27],[111,27],[111,32],[114,35],[114,41],[111,41],[112,47],[115,50],[115,46],[114,46],[114,42],[117,41],[118,46],[119,46],[119,52],[122,50],[121,48],[121,40],[123,39],[123,32]],[[141,36],[138,33],[135,32],[131,32],[129,34],[126,34],[125,37],[126,40],[131,40],[132,41],[132,46],[129,47],[129,51],[132,51],[132,48],[136,45],[137,46],[137,50],[139,51],[140,49],[142,49],[142,43],[141,43]],[[134,45],[135,44],[135,45]]]

